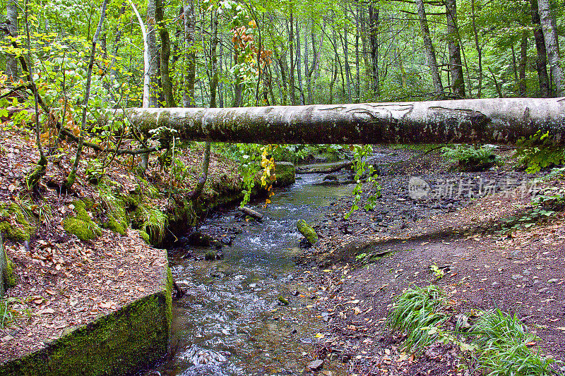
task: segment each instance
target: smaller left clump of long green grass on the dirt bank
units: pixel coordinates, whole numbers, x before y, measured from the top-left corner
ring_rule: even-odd
[[[439,328],[447,320],[444,293],[436,286],[408,289],[398,297],[388,325],[391,329],[406,332],[407,351],[420,352],[424,346],[434,343],[437,332],[422,328]]]

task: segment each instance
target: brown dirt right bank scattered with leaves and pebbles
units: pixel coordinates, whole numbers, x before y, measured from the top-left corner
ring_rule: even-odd
[[[435,284],[446,292],[453,317],[472,322],[479,310],[494,308],[515,314],[540,337],[532,345],[542,356],[564,361],[565,215],[536,217],[532,205],[538,190],[563,188],[563,176],[537,182],[509,163],[458,173],[438,152],[376,152],[386,157],[375,209],[357,210],[346,221],[352,199],[335,202],[314,226],[319,243],[300,260],[312,267],[304,293],[327,322],[314,358],[338,359],[348,375],[481,374],[476,359],[458,346],[436,343],[413,356],[403,348],[403,333],[388,327],[403,291]],[[499,152],[506,161],[511,153]],[[439,192],[436,198],[410,198],[412,176]],[[489,183],[499,193],[479,197]],[[565,370],[564,363],[552,367],[557,374]]]

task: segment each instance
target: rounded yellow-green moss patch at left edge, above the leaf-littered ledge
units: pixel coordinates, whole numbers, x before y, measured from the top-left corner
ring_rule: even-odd
[[[28,241],[35,230],[35,217],[31,212],[22,210],[16,202],[0,205],[0,233],[5,234],[6,238]]]

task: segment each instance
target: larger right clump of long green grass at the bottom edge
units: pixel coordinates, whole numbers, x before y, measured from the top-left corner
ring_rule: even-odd
[[[483,312],[472,326],[479,345],[480,368],[489,376],[552,375],[549,365],[554,361],[542,358],[535,346],[540,339],[528,332],[516,315],[499,309]]]

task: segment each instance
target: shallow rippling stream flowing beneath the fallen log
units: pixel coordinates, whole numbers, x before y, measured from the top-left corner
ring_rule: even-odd
[[[169,357],[143,375],[297,375],[312,360],[319,311],[309,297],[292,293],[304,271],[292,256],[300,252],[298,219],[313,222],[351,186],[314,186],[320,175],[302,175],[276,191],[263,209],[263,223],[245,222],[237,210],[216,213],[205,234],[242,231],[222,260],[171,257],[172,274],[186,296],[173,303]],[[221,235],[220,235],[221,236]],[[209,248],[188,248],[202,258]],[[290,301],[284,305],[284,297]],[[310,302],[310,303],[309,303]],[[324,370],[331,365],[324,365]],[[333,375],[339,375],[333,370]]]

